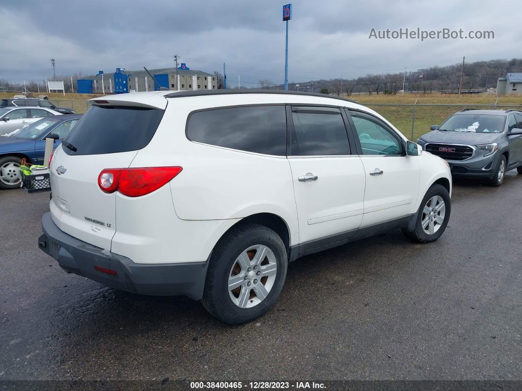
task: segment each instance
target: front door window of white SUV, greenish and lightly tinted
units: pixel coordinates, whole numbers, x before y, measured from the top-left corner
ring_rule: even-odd
[[[401,155],[399,137],[370,115],[351,112],[363,155]]]

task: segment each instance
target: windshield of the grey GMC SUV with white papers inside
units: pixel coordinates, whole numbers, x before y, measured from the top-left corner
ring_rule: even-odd
[[[450,116],[437,130],[443,132],[501,133],[505,117],[494,114],[457,114]]]

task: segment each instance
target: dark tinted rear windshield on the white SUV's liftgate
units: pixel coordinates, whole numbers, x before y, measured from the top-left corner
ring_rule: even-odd
[[[69,155],[101,155],[135,151],[149,144],[164,111],[129,106],[92,106],[78,121],[66,141]]]

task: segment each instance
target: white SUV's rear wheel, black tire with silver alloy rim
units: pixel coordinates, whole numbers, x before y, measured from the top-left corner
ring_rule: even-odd
[[[212,251],[201,303],[222,322],[250,322],[277,300],[287,267],[287,250],[277,233],[259,224],[235,227]],[[239,286],[229,291],[229,283]]]

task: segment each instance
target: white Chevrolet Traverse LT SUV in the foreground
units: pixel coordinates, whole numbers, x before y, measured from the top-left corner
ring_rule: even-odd
[[[56,149],[40,248],[125,291],[183,294],[224,322],[265,313],[296,258],[450,214],[447,163],[322,94],[157,91],[91,99]]]

